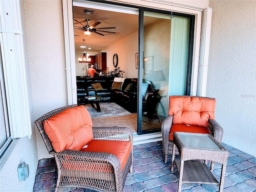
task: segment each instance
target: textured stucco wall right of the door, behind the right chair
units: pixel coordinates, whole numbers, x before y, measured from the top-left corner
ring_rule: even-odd
[[[206,96],[223,142],[256,156],[256,1],[215,1]]]

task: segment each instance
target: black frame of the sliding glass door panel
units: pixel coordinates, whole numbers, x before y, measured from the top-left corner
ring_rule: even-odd
[[[154,130],[141,130],[142,126],[142,82],[143,82],[143,49],[144,49],[144,11],[154,12],[159,14],[167,14],[171,16],[170,11],[156,10],[151,8],[140,8],[139,9],[139,27],[138,27],[138,97],[137,97],[137,134],[149,134],[154,132],[160,132],[159,129]],[[182,14],[182,13],[172,13],[173,16],[183,16],[186,18],[190,18],[190,26],[189,26],[189,42],[188,42],[188,70],[187,70],[187,78],[186,78],[186,91],[185,95],[190,95],[191,89],[191,75],[192,75],[192,58],[193,58],[193,45],[194,45],[194,26],[195,26],[195,16],[190,14]]]

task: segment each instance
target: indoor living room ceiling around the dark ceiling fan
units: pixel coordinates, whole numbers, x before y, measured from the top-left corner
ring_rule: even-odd
[[[84,13],[84,9],[94,10],[94,14]],[[85,40],[84,45],[86,46],[86,52],[98,52],[102,48],[105,48],[114,42],[138,31],[138,15],[73,6],[73,17],[75,20],[82,22],[83,25],[87,24],[86,22],[83,22],[85,19],[90,19],[90,23],[88,23],[89,26],[100,21],[101,24],[97,25],[95,28],[114,26],[116,27],[115,29],[106,29],[106,31],[118,32],[116,34],[103,33],[106,34],[105,36],[101,36],[96,33],[91,33],[90,35],[86,36],[84,31],[75,29],[74,34],[76,52],[82,53],[84,51],[83,48],[80,48],[80,46],[83,45],[83,39]],[[74,21],[74,23],[76,23],[76,21]],[[75,26],[80,27],[80,24],[75,24]],[[92,49],[88,50],[89,47]]]

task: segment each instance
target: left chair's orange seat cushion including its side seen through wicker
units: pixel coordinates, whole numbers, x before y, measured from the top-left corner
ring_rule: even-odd
[[[82,148],[81,151],[111,153],[120,160],[121,170],[123,170],[131,148],[130,141],[92,140],[87,144],[87,147]],[[99,164],[98,162],[74,162],[72,157],[67,157],[67,159],[69,160],[68,162],[62,162],[62,167],[66,170],[82,170],[102,173],[114,172],[112,166],[107,164]]]

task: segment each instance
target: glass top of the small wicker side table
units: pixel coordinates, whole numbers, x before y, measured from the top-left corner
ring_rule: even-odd
[[[208,134],[178,133],[178,135],[186,147],[221,150]]]

